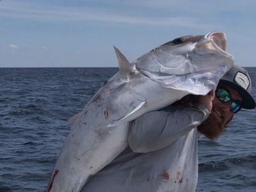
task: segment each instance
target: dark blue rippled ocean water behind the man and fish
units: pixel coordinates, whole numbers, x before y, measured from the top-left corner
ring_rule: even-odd
[[[0,68],[0,192],[46,191],[68,119],[117,71]],[[216,141],[200,137],[196,191],[256,191],[255,112],[242,109]]]

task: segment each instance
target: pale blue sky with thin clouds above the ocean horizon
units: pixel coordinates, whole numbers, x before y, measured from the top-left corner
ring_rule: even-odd
[[[184,35],[222,31],[256,67],[256,0],[0,0],[0,67],[118,67]]]

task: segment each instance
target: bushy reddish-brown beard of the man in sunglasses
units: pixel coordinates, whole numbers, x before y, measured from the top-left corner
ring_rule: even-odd
[[[225,116],[225,111],[222,108],[213,106],[212,111],[218,111],[221,113],[221,116]],[[230,118],[232,120],[232,118]],[[228,120],[228,122],[230,122]],[[209,140],[216,140],[220,134],[224,131],[228,122],[225,122],[224,118],[220,118],[220,116],[216,113],[211,113],[207,120],[202,122],[202,124],[198,125],[198,131],[205,135]]]

